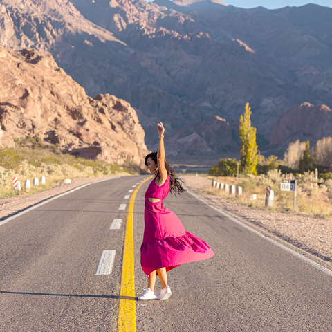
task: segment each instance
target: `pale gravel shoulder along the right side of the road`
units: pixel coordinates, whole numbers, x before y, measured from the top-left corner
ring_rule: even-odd
[[[276,213],[241,205],[203,192],[211,181],[203,176],[181,176],[185,187],[220,210],[239,217],[297,248],[319,257],[332,268],[332,220],[289,211]]]

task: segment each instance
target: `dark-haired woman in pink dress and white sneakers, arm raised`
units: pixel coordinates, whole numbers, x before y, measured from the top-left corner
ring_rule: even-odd
[[[214,256],[211,248],[199,237],[185,232],[176,214],[163,205],[169,190],[175,196],[185,190],[165,159],[163,123],[158,123],[157,127],[158,153],[153,152],[145,157],[145,165],[154,174],[154,179],[145,192],[145,229],[140,247],[140,263],[148,279],[147,288],[138,297],[143,300],[169,299],[172,292],[167,284],[167,271],[190,261],[200,261]],[[154,291],[157,274],[162,287],[158,297]]]

